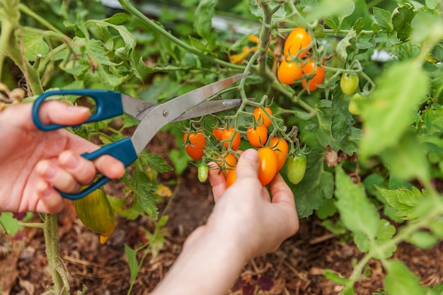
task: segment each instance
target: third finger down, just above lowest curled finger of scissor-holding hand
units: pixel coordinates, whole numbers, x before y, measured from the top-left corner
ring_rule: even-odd
[[[52,161],[44,160],[38,162],[35,166],[35,171],[42,180],[50,183],[53,187],[57,187],[62,192],[78,192],[80,189],[80,184],[77,183],[75,178],[66,170],[52,163]]]

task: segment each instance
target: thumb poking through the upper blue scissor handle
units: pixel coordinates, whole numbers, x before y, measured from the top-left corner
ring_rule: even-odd
[[[77,125],[86,121],[91,115],[88,108],[67,105],[58,100],[42,103],[39,111],[40,121],[43,125]]]

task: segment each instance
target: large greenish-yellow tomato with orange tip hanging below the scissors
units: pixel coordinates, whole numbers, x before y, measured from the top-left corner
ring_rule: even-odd
[[[74,200],[74,207],[81,222],[91,231],[100,233],[100,244],[106,243],[114,232],[115,216],[105,191],[99,188]]]

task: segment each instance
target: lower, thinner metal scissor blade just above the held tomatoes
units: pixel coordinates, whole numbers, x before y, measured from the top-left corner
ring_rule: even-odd
[[[248,98],[248,100],[255,101],[255,98]],[[183,114],[177,117],[176,120],[173,120],[173,122],[188,120],[195,117],[214,114],[216,112],[222,112],[222,110],[236,108],[241,105],[242,102],[243,100],[241,98],[204,101],[199,105],[196,105],[194,108],[183,112]]]

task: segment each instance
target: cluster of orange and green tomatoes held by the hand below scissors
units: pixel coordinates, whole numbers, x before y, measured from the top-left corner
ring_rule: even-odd
[[[268,140],[268,127],[271,125],[272,110],[269,107],[255,108],[253,110],[254,123],[246,130],[246,138],[251,146],[257,148],[259,169],[258,179],[262,185],[269,184],[277,172],[287,162],[287,176],[289,181],[297,184],[304,177],[306,158],[296,155],[289,156],[289,144],[282,137],[272,137]],[[241,144],[241,134],[234,127],[215,127],[212,136],[219,141],[220,150],[214,153],[214,158],[226,177],[226,187],[231,186],[236,180],[236,165],[238,153],[236,150]],[[202,130],[185,132],[183,136],[185,150],[195,161],[200,161],[207,149],[207,137]],[[211,151],[209,153],[211,154]],[[206,163],[198,166],[198,178],[205,182],[209,172]]]

